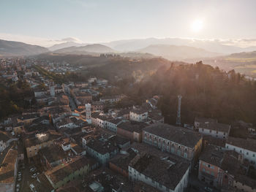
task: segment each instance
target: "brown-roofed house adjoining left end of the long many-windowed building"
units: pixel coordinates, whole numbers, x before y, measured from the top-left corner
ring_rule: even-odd
[[[128,121],[120,123],[117,126],[116,133],[129,139],[132,142],[142,142],[143,139],[143,128],[148,126],[148,124],[143,122]]]

